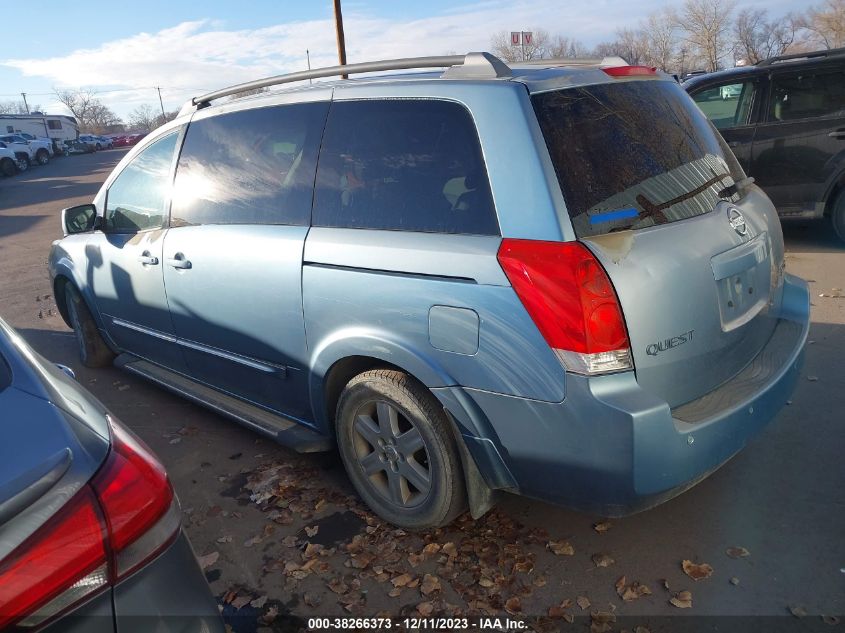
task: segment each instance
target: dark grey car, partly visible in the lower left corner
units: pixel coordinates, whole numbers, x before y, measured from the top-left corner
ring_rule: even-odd
[[[222,632],[164,468],[71,375],[0,320],[0,629]]]

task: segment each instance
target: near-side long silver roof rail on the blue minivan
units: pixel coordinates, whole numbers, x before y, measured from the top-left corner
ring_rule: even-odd
[[[315,68],[314,70],[303,70],[286,75],[276,75],[266,79],[256,79],[246,83],[237,84],[221,90],[215,90],[199,97],[194,97],[185,104],[183,110],[188,106],[204,107],[210,101],[229,97],[239,92],[278,86],[280,84],[303,81],[305,79],[320,79],[322,77],[334,77],[336,75],[352,75],[358,73],[371,73],[383,70],[408,70],[412,68],[442,68],[449,67],[444,73],[446,78],[460,79],[492,79],[495,77],[510,77],[510,68],[502,60],[490,53],[467,53],[466,55],[443,55],[439,57],[407,57],[404,59],[388,59],[376,62],[363,62],[360,64],[347,64],[344,66],[330,66],[328,68]]]

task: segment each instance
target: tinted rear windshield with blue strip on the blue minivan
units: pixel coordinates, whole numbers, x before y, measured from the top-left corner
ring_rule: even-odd
[[[745,177],[683,88],[619,81],[536,94],[534,110],[579,237],[713,210]]]

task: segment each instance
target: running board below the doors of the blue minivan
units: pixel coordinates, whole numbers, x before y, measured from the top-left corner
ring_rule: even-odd
[[[297,453],[319,453],[331,450],[334,445],[331,438],[320,435],[298,422],[270,413],[130,354],[121,354],[114,364],[188,400],[193,400],[197,404],[237,420],[259,433],[268,435]]]

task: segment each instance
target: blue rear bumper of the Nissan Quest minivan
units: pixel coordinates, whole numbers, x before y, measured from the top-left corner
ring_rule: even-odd
[[[560,403],[465,389],[485,418],[472,426],[492,437],[470,430],[464,439],[493,487],[504,471],[527,496],[606,516],[644,510],[701,481],[775,417],[798,379],[809,321],[807,285],[786,275],[772,338],[745,372],[695,403],[673,411],[633,372],[567,375]],[[501,465],[476,454],[481,440]]]

